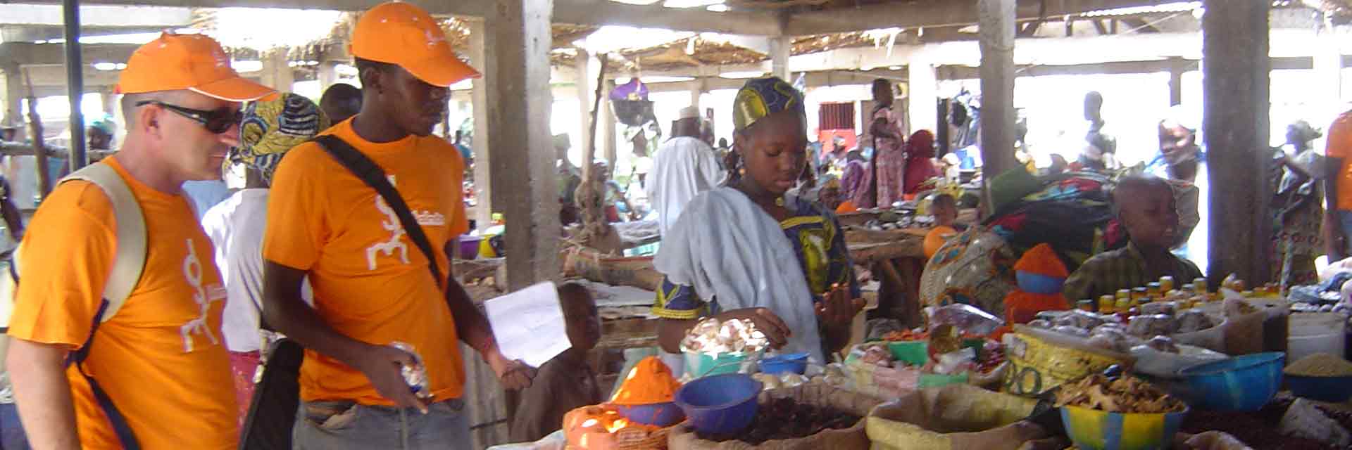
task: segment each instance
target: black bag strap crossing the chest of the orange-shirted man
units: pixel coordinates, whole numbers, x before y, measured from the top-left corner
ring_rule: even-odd
[[[320,135],[315,136],[315,142],[319,147],[329,151],[329,155],[338,159],[343,168],[352,172],[352,174],[366,182],[368,186],[376,189],[381,197],[385,199],[385,204],[399,216],[399,223],[404,226],[404,232],[408,234],[408,239],[422,250],[423,255],[427,257],[427,269],[431,270],[433,280],[441,286],[446,282],[446,278],[441,274],[441,268],[437,266],[437,254],[433,253],[431,242],[427,241],[427,234],[422,231],[422,226],[418,224],[418,219],[414,218],[412,211],[408,209],[408,204],[404,203],[404,197],[399,195],[399,191],[389,184],[389,178],[385,178],[385,170],[370,161],[366,155],[353,149],[347,142],[343,142],[334,135]]]

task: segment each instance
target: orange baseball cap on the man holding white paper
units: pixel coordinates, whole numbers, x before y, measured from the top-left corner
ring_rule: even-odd
[[[437,20],[407,3],[381,3],[362,14],[349,51],[357,58],[397,65],[434,86],[480,77],[450,50]]]

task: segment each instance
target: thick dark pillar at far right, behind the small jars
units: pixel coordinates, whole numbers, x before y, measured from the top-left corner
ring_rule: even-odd
[[[1206,0],[1202,16],[1202,135],[1209,193],[1209,272],[1251,285],[1271,278],[1268,247],[1268,1]],[[983,111],[984,112],[984,111]],[[1224,186],[1218,188],[1218,186]]]

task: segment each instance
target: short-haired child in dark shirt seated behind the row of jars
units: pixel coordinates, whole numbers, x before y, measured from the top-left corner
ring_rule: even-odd
[[[1145,286],[1163,276],[1202,277],[1197,265],[1169,251],[1178,238],[1179,214],[1168,182],[1142,176],[1124,178],[1113,191],[1113,208],[1130,243],[1084,261],[1065,280],[1067,300],[1096,300],[1118,289]]]

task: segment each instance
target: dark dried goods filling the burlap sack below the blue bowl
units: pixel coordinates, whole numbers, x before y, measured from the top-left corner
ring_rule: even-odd
[[[734,434],[699,434],[700,439],[723,442],[741,441],[750,445],[760,445],[772,439],[806,438],[823,430],[844,430],[853,427],[861,418],[830,407],[818,407],[794,401],[794,399],[775,399],[760,405],[756,422],[746,430]]]

